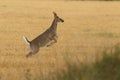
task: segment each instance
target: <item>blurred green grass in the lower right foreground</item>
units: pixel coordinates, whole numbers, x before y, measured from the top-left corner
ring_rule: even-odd
[[[103,52],[100,60],[90,65],[71,61],[68,55],[64,56],[66,70],[57,69],[48,77],[33,78],[30,70],[26,71],[26,80],[120,80],[120,46],[115,45]]]

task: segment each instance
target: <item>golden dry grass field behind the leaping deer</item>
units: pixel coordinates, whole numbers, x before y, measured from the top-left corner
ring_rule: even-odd
[[[58,24],[58,42],[26,58],[23,35],[32,40],[44,32],[51,25],[53,11],[65,21]],[[49,76],[66,69],[66,56],[71,62],[90,64],[103,49],[119,42],[120,2],[0,1],[0,80]]]

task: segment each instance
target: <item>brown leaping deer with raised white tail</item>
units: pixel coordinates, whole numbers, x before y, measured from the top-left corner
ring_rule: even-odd
[[[64,20],[58,17],[58,15],[55,12],[53,12],[53,14],[54,14],[54,19],[51,26],[47,30],[45,30],[42,34],[40,34],[39,36],[37,36],[31,41],[29,41],[27,37],[23,36],[25,43],[28,45],[30,49],[26,57],[30,57],[38,53],[41,47],[45,47],[45,46],[49,47],[54,43],[57,43],[57,39],[58,39],[57,24],[59,22],[63,23]]]

